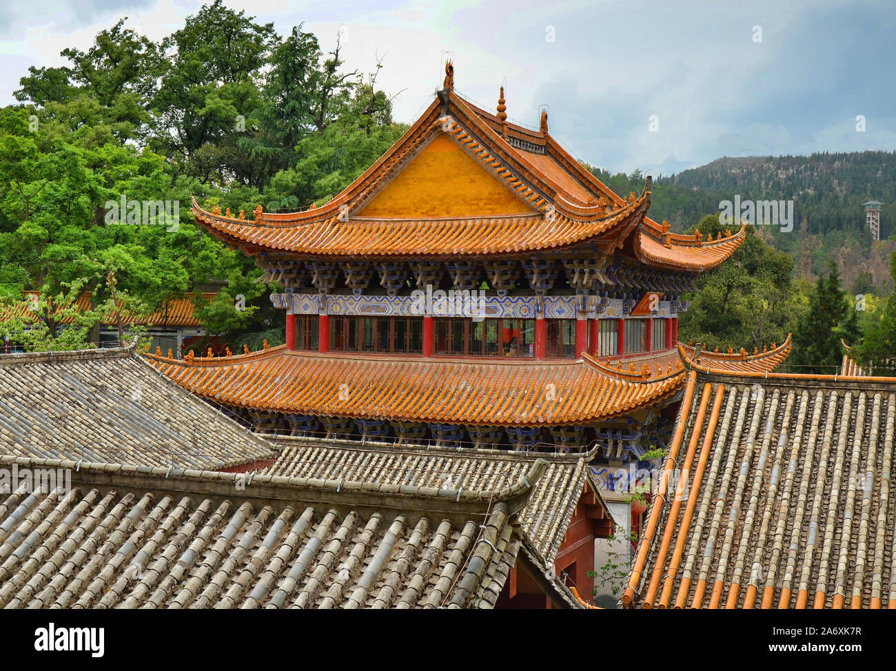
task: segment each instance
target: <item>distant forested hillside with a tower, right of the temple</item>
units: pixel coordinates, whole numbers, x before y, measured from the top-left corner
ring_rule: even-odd
[[[596,175],[628,193],[643,183],[631,175]],[[794,227],[759,227],[760,237],[794,259],[797,278],[814,281],[833,262],[845,288],[856,293],[892,291],[889,240],[896,224],[896,151],[818,153],[811,156],[723,158],[700,168],[654,179],[650,216],[674,230],[693,229],[719,202],[794,201]],[[883,202],[882,242],[872,245],[862,203]]]

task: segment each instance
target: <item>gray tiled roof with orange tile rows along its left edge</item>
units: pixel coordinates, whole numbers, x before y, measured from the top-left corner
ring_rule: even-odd
[[[896,607],[896,378],[694,369],[626,606]]]

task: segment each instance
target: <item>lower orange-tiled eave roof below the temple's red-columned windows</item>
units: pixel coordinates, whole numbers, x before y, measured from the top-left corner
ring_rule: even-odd
[[[288,351],[192,361],[148,355],[194,393],[225,405],[296,414],[474,425],[574,425],[674,394],[676,371],[626,379],[590,357],[543,362],[410,359]]]

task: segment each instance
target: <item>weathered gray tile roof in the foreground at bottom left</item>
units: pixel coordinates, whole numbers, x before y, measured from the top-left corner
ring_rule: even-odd
[[[71,489],[0,495],[0,606],[492,607],[547,467],[491,491],[0,457]]]

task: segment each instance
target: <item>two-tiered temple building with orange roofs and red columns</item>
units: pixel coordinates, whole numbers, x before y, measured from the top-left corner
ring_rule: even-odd
[[[289,214],[202,209],[196,222],[284,291],[286,345],[151,360],[269,433],[528,450],[664,444],[683,384],[694,279],[733,254],[671,233],[548,132],[454,91],[332,201]],[[659,443],[658,443],[659,442]]]

